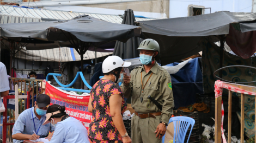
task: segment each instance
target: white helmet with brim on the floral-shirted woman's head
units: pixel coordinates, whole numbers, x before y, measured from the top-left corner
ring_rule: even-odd
[[[119,56],[108,56],[102,63],[102,72],[109,73],[119,67],[129,67],[131,64],[131,62],[124,62]]]

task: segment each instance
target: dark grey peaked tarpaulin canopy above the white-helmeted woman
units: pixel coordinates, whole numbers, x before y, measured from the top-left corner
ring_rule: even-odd
[[[60,22],[49,28],[47,39],[50,41],[107,42],[139,36],[141,28],[133,25],[117,24],[90,17],[78,16],[70,21]]]

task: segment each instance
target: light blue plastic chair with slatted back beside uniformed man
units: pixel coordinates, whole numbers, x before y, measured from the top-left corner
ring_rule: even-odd
[[[190,135],[191,135],[192,129],[194,127],[194,122],[195,122],[194,119],[187,116],[175,116],[173,118],[170,118],[168,125],[170,124],[170,122],[173,122],[173,126],[174,126],[173,143],[184,143],[186,133],[190,125],[191,125],[191,129],[190,129]],[[187,142],[188,140],[190,140],[190,135],[188,135]],[[164,138],[165,138],[165,135],[163,135],[162,143],[164,143]]]

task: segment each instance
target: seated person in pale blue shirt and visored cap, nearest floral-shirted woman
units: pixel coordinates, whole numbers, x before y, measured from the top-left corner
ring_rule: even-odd
[[[50,140],[48,143],[89,143],[86,127],[79,120],[66,114],[65,106],[54,104],[48,107],[46,120],[42,125],[50,122],[56,128],[52,138],[48,139]],[[44,142],[39,141],[38,143]]]

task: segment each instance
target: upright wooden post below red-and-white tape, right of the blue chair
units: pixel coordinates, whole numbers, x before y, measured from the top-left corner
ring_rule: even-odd
[[[215,142],[221,142],[221,99],[215,98]]]

